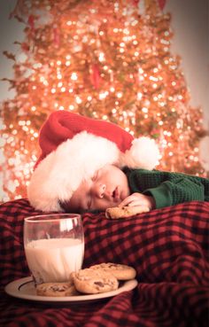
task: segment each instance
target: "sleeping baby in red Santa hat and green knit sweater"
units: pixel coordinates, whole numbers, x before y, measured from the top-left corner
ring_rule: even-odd
[[[208,179],[155,169],[160,158],[155,141],[134,139],[112,122],[53,112],[41,128],[39,144],[42,153],[27,196],[43,212],[113,207],[122,216],[125,207],[128,216],[191,200],[209,201]]]

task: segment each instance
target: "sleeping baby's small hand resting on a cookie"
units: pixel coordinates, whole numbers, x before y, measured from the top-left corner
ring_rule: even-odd
[[[148,195],[133,193],[122,200],[119,206],[147,206],[151,210],[155,208],[155,200]]]

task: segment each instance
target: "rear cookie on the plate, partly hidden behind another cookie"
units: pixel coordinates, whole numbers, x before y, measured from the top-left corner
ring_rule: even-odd
[[[133,267],[119,263],[100,263],[91,266],[90,269],[101,270],[115,276],[118,280],[128,280],[135,278],[136,271]]]

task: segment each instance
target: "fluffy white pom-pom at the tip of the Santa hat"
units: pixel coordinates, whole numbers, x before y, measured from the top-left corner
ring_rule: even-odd
[[[139,137],[132,142],[130,150],[125,152],[123,164],[130,168],[153,169],[159,164],[159,147],[150,137]]]

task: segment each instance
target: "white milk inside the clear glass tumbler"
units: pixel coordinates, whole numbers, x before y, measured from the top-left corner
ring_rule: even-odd
[[[65,282],[81,269],[84,242],[76,238],[49,238],[25,246],[27,264],[35,283]]]

